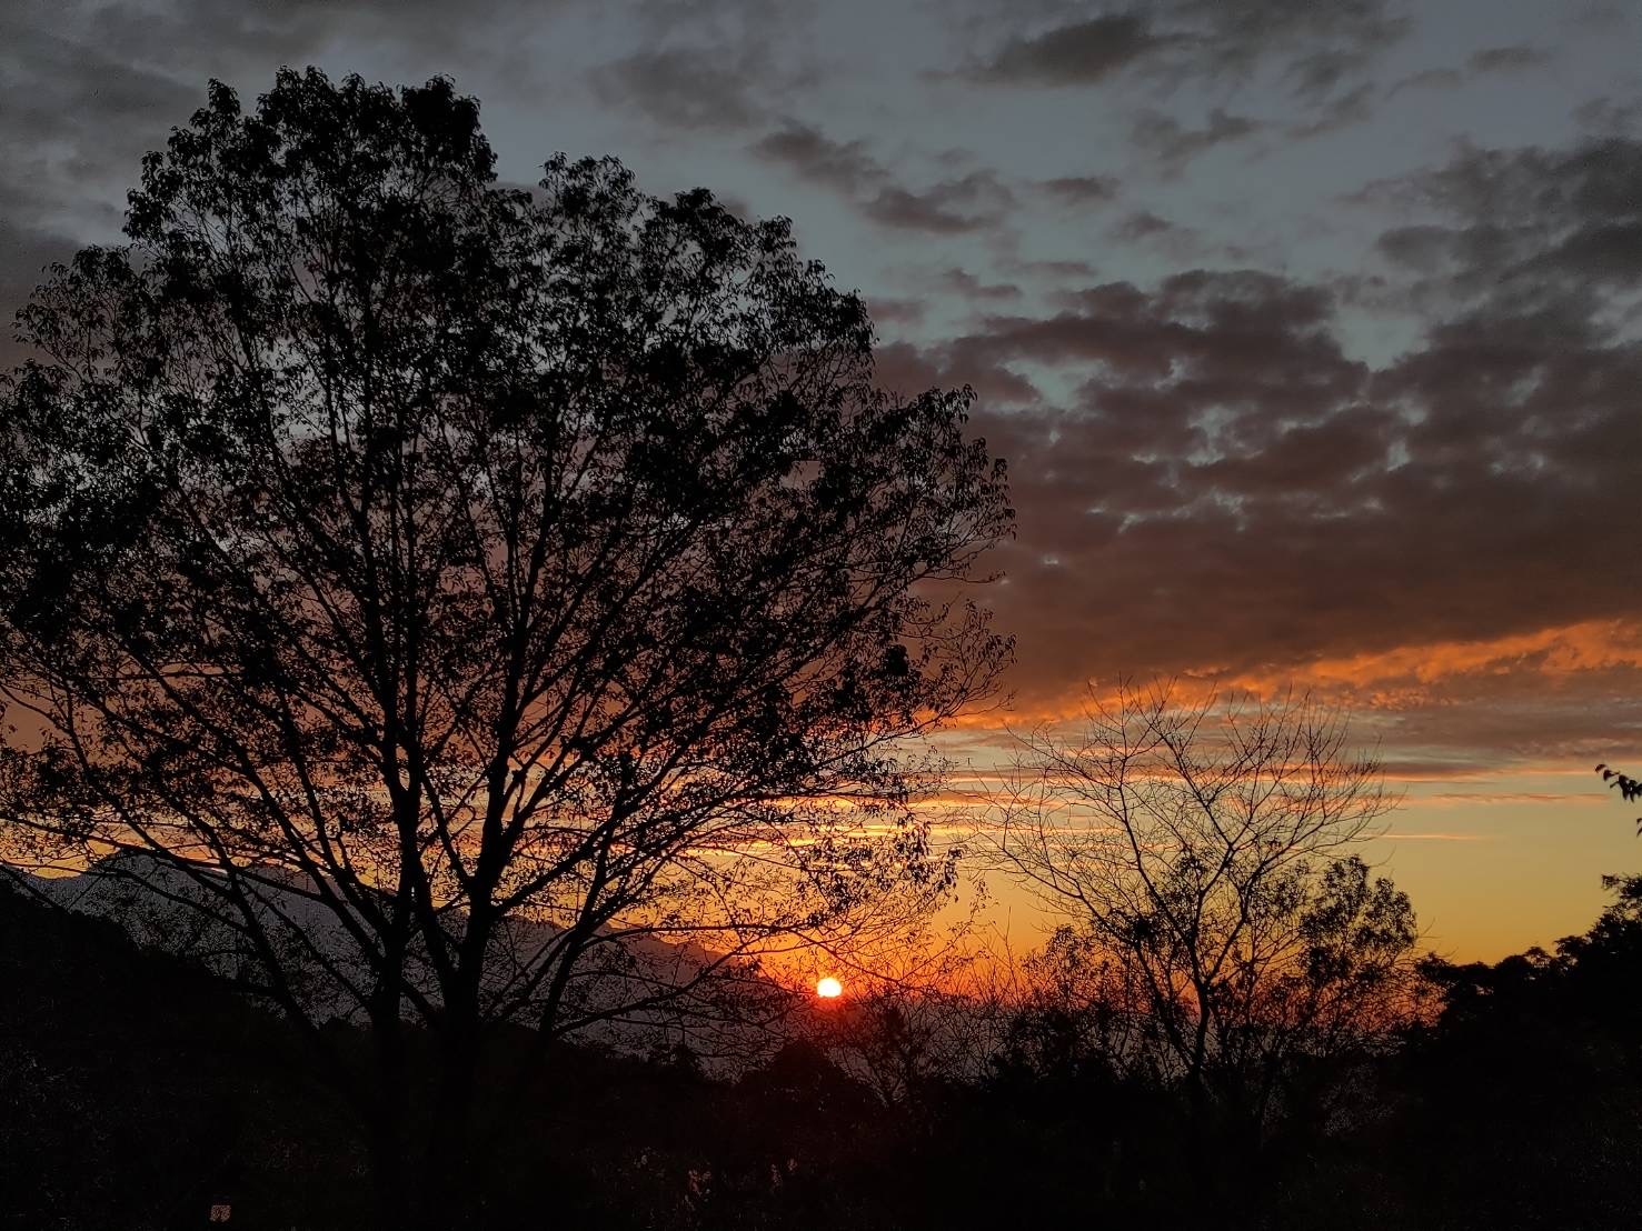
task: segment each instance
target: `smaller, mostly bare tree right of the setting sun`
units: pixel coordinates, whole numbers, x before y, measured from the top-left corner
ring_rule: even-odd
[[[1256,1134],[1296,1062],[1391,1026],[1417,931],[1353,853],[1394,799],[1346,737],[1309,699],[1169,689],[1028,737],[984,832],[1064,921],[1033,963],[1036,1009]]]

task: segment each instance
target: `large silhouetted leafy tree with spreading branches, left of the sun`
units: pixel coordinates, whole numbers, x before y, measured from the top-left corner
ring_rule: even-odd
[[[708,1013],[941,890],[908,740],[1008,652],[956,597],[1002,464],[967,391],[874,387],[785,220],[504,189],[448,82],[310,69],[213,82],[126,235],[0,387],[7,855],[140,878],[317,1042],[366,1019],[384,1223],[460,1221],[486,1023]]]

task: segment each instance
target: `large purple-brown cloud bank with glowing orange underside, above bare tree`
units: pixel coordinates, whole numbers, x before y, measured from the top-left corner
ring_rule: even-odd
[[[1566,190],[1593,217],[1626,207]],[[1023,712],[1080,680],[1189,675],[1353,694],[1399,747],[1460,758],[1642,740],[1622,565],[1642,348],[1578,302],[1524,318],[1484,299],[1373,368],[1335,307],[1327,286],[1197,269],[923,351],[1039,391],[975,417],[1018,509],[988,601]]]

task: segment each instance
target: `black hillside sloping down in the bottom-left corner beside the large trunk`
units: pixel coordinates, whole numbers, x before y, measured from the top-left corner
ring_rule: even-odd
[[[5,1224],[194,1226],[255,1193],[289,1226],[292,1185],[355,1152],[282,1023],[112,922],[0,888],[0,986]]]

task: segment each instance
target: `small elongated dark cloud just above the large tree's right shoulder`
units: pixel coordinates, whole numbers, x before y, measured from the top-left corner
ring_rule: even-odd
[[[882,227],[933,235],[980,231],[1003,222],[1015,205],[1015,194],[990,171],[911,189],[874,158],[865,143],[836,141],[798,121],[765,135],[750,149],[836,192]]]

